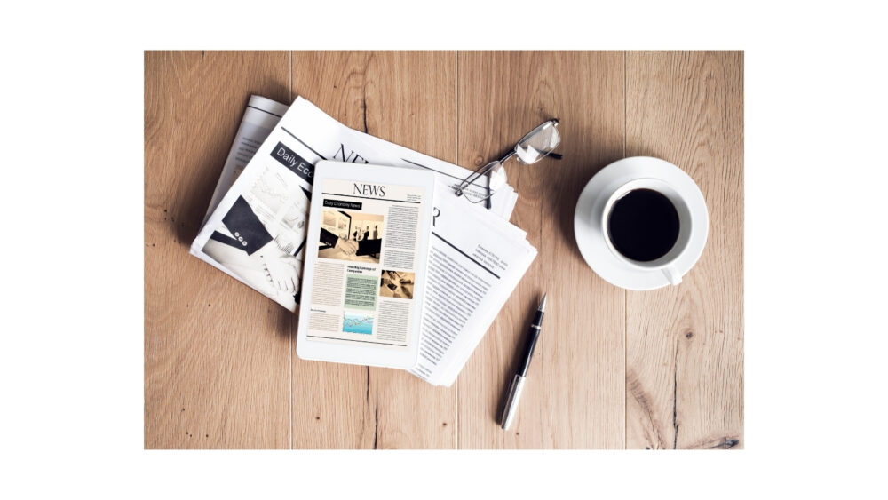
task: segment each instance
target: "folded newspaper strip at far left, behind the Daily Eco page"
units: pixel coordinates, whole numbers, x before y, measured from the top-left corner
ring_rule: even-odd
[[[222,167],[222,174],[219,175],[216,190],[213,192],[210,208],[207,215],[203,218],[203,224],[213,210],[216,210],[219,202],[222,200],[234,181],[241,175],[243,168],[250,163],[253,155],[256,154],[259,146],[266,140],[268,134],[274,130],[281,116],[287,112],[287,105],[272,99],[266,99],[262,96],[252,95],[247,103],[247,108],[243,112],[241,126],[238,127],[237,133],[234,135],[234,142],[231,150],[228,151],[225,165]]]

